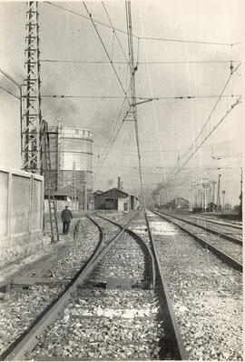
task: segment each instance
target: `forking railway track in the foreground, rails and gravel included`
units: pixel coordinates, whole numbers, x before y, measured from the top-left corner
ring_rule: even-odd
[[[3,357],[187,359],[151,248],[131,220],[90,219],[100,230],[93,256]]]

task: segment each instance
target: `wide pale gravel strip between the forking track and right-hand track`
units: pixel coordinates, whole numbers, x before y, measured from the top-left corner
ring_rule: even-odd
[[[242,360],[242,277],[177,226],[150,214],[190,359]]]

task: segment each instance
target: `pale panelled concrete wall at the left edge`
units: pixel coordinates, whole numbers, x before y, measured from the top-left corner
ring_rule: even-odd
[[[0,167],[0,266],[43,245],[44,177]]]

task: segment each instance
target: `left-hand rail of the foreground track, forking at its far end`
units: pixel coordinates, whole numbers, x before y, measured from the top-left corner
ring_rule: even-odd
[[[83,282],[83,280],[93,270],[93,267],[103,258],[107,251],[113,246],[114,242],[122,235],[123,229],[102,249],[104,244],[104,230],[99,226],[91,216],[87,216],[95,226],[98,226],[100,231],[100,239],[93,251],[93,255],[87,260],[83,267],[76,273],[70,283],[65,287],[64,291],[54,301],[44,309],[39,316],[34,319],[34,322],[28,327],[20,337],[7,347],[5,352],[0,355],[0,360],[25,360],[25,352],[33,349],[37,344],[37,337],[40,336],[46,327],[48,327],[58,317],[61,310],[68,303],[69,298],[76,292],[76,287]],[[130,220],[130,222],[132,219]],[[130,223],[129,222],[129,223]],[[128,224],[129,224],[128,223]],[[127,224],[127,226],[128,226]]]

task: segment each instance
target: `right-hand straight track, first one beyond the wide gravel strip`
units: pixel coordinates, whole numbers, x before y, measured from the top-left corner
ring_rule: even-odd
[[[181,217],[178,217],[178,216],[170,216],[169,214],[163,214],[162,212],[157,212],[157,211],[152,211],[152,212],[158,216],[161,216],[163,219],[170,221],[172,224],[179,226],[183,231],[188,233],[190,236],[194,237],[195,240],[201,244],[201,246],[211,250],[211,252],[213,252],[216,256],[219,256],[223,262],[227,263],[229,266],[233,267],[234,269],[242,272],[242,264],[240,263],[240,261],[237,258],[235,258],[234,256],[230,256],[227,252],[224,252],[223,250],[221,250],[220,246],[217,247],[217,245],[219,245],[219,244],[222,244],[222,243],[224,244],[227,239],[230,240],[229,241],[230,244],[231,244],[231,242],[234,242],[234,243],[240,245],[240,243],[238,243],[237,239],[235,242],[233,240],[233,238],[229,238],[229,236],[227,236],[227,235],[221,235],[220,233],[214,233],[214,230],[211,230],[205,226],[197,225],[190,221],[186,221],[185,219],[181,219]],[[183,224],[186,224],[186,226],[184,226]],[[195,231],[191,231],[190,226],[193,226],[195,228]],[[205,234],[202,233],[202,236],[201,236],[201,232],[197,231],[198,228],[204,230]],[[210,237],[211,237],[211,235],[214,235],[214,234],[219,237],[215,241],[212,239],[211,242],[208,242],[207,238],[209,236],[209,233],[211,233]],[[204,236],[205,236],[205,238],[204,238]],[[231,253],[232,244],[231,244],[231,246],[230,245],[228,245],[228,246],[230,249],[229,253]],[[221,245],[221,247],[222,247],[222,245]],[[226,248],[227,248],[227,245],[226,245]],[[241,245],[240,245],[240,255],[241,255]]]

